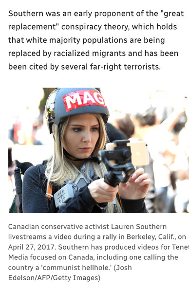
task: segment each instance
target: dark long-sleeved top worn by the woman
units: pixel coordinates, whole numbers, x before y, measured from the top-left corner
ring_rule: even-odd
[[[23,213],[51,213],[50,202],[45,196],[47,180],[45,178],[45,165],[39,164],[27,169],[22,185]],[[54,185],[53,190],[60,187]],[[125,213],[148,213],[144,199],[121,199]],[[61,207],[58,213],[101,213],[97,202],[92,198],[86,186],[81,188],[75,197],[70,199],[66,206]]]

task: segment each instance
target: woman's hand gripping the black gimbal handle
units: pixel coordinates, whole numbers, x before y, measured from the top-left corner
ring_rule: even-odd
[[[97,203],[113,202],[118,192],[118,186],[114,188],[104,182],[104,179],[93,181],[88,188]]]

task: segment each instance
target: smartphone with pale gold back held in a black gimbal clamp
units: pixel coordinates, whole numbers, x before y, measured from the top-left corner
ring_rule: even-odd
[[[116,149],[125,149],[131,151],[131,158],[128,159],[125,163],[131,162],[133,166],[143,166],[149,164],[149,151],[148,144],[143,141],[129,141],[129,140],[121,140],[114,141],[113,143],[109,143],[106,145],[107,151],[112,151]],[[124,158],[122,157],[124,160]],[[118,163],[116,160],[110,160],[112,165]]]

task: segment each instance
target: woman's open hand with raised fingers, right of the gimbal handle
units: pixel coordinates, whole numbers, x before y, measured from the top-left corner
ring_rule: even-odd
[[[150,187],[151,180],[144,169],[137,169],[126,183],[119,184],[119,193],[122,199],[143,199]]]

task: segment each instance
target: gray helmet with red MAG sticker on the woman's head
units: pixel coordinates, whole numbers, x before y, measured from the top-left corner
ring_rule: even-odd
[[[45,106],[45,117],[50,133],[52,125],[70,115],[100,113],[107,123],[109,110],[104,98],[95,88],[57,88],[49,95]]]

